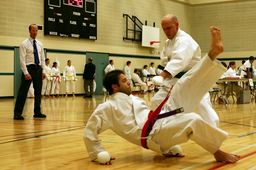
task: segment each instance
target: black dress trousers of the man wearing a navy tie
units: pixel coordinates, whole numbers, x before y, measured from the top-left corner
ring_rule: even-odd
[[[18,91],[15,107],[14,107],[14,116],[22,115],[23,108],[27,99],[28,90],[33,81],[35,103],[34,103],[34,114],[41,114],[41,91],[42,91],[42,68],[39,65],[30,64],[27,65],[28,74],[30,74],[30,80],[25,79],[25,75],[22,72],[20,89]]]

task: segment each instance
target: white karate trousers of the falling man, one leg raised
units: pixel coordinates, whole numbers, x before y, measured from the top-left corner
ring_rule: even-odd
[[[183,107],[184,112],[163,118],[156,133],[153,126],[147,140],[149,149],[167,153],[172,146],[191,139],[206,151],[215,153],[228,137],[227,132],[192,113],[225,69],[219,61],[215,60],[219,64],[214,64],[208,56],[202,60],[176,83],[166,101],[165,111]]]

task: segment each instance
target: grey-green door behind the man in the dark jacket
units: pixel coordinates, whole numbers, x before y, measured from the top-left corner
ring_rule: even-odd
[[[86,63],[89,57],[92,57],[92,63],[96,66],[96,90],[94,94],[104,94],[104,92],[102,91],[102,79],[104,77],[104,69],[108,65],[108,54],[86,52]]]

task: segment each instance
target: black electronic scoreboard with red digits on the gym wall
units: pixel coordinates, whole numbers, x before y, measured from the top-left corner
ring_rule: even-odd
[[[44,0],[44,35],[97,40],[97,0]]]

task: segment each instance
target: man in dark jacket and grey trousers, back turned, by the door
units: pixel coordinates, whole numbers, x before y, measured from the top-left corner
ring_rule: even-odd
[[[88,63],[84,66],[84,74],[83,74],[83,80],[84,80],[84,91],[85,96],[84,98],[92,98],[93,95],[93,78],[95,74],[95,65],[92,63],[92,57],[88,58]],[[88,86],[90,86],[90,95],[88,91]]]

